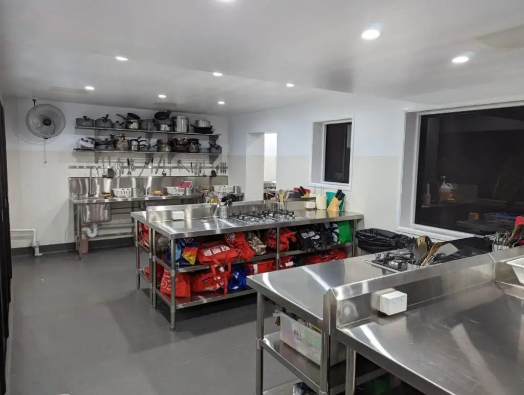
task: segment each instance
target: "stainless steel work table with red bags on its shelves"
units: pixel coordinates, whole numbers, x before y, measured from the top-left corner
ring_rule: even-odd
[[[257,206],[264,205],[276,205],[276,202],[235,202],[232,206],[232,210],[241,210],[243,212],[253,211]],[[261,207],[260,206],[260,207]],[[184,220],[171,220],[171,211],[185,211]],[[206,211],[207,210],[207,211]],[[308,251],[280,251],[280,238],[279,232],[283,227],[294,227],[300,225],[310,225],[314,223],[326,223],[326,222],[339,222],[339,221],[352,221],[353,229],[353,240],[355,240],[356,232],[356,221],[363,218],[362,214],[353,212],[342,212],[333,213],[326,210],[294,210],[296,218],[290,220],[257,222],[257,223],[246,223],[240,220],[227,218],[220,219],[211,217],[211,215],[202,216],[202,213],[212,212],[212,207],[209,204],[204,205],[187,205],[187,206],[157,206],[150,207],[148,211],[133,212],[132,218],[135,220],[135,240],[136,240],[136,286],[137,289],[140,287],[140,280],[145,280],[150,287],[150,299],[151,305],[156,308],[157,297],[165,302],[170,307],[170,328],[174,330],[175,327],[175,312],[177,309],[192,307],[195,305],[209,303],[214,301],[220,301],[231,297],[238,297],[247,294],[253,294],[256,290],[248,289],[240,292],[235,292],[226,295],[217,295],[214,292],[192,295],[191,298],[177,298],[174,294],[174,286],[171,286],[171,295],[162,294],[157,287],[156,280],[156,264],[158,263],[163,266],[164,271],[169,271],[171,274],[171,285],[176,284],[176,274],[183,272],[194,272],[199,270],[209,269],[208,265],[194,265],[187,267],[171,268],[171,266],[162,261],[156,256],[156,233],[160,233],[166,238],[170,239],[170,250],[172,253],[171,262],[176,261],[174,258],[174,251],[176,239],[186,237],[200,237],[209,236],[214,234],[224,234],[231,232],[245,232],[249,230],[262,230],[262,229],[276,229],[277,231],[277,247],[274,253],[267,253],[254,257],[250,262],[257,262],[261,260],[275,259],[277,271],[279,268],[279,260],[281,257],[287,255],[298,255],[307,253]],[[197,218],[198,216],[198,218]],[[149,245],[151,251],[146,248],[145,245],[139,242],[138,234],[138,223],[143,223],[149,227]],[[337,244],[331,246],[331,248],[351,248],[354,254],[356,244],[355,242]],[[149,252],[149,271],[151,273],[150,279],[146,276],[144,269],[140,267],[140,250],[145,249]],[[234,262],[233,264],[244,263]],[[325,292],[325,290],[324,290]],[[173,303],[174,301],[174,303]]]

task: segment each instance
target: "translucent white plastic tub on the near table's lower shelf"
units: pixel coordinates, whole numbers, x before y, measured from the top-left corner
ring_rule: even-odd
[[[316,330],[295,321],[286,314],[280,315],[280,339],[304,357],[320,365],[322,335]],[[346,359],[346,347],[331,340],[331,365]]]

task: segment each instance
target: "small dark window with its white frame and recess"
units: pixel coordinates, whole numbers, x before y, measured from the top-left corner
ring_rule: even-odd
[[[313,185],[350,189],[352,138],[352,119],[313,124]]]

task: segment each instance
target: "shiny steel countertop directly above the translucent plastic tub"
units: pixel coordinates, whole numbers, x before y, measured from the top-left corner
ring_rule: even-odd
[[[330,288],[395,275],[363,261],[372,257],[375,255],[255,274],[247,277],[247,284],[322,329],[323,297]]]

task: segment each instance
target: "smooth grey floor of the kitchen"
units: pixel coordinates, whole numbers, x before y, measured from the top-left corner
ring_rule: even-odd
[[[172,333],[168,311],[136,290],[133,248],[13,266],[12,395],[254,393],[254,295],[179,311]],[[268,305],[266,332],[277,330]],[[294,379],[270,356],[264,365],[266,389]]]

